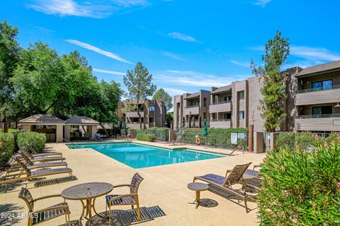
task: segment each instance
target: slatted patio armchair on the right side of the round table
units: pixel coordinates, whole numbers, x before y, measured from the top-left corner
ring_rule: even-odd
[[[130,184],[120,184],[113,186],[113,188],[118,188],[120,186],[128,186],[130,188],[130,194],[123,195],[107,195],[106,198],[106,212],[108,211],[108,220],[109,225],[111,225],[111,206],[122,206],[122,205],[131,205],[132,209],[134,205],[137,206],[137,220],[140,221],[140,203],[138,201],[138,188],[140,186],[140,182],[142,182],[144,178],[140,176],[137,172],[133,175]]]

